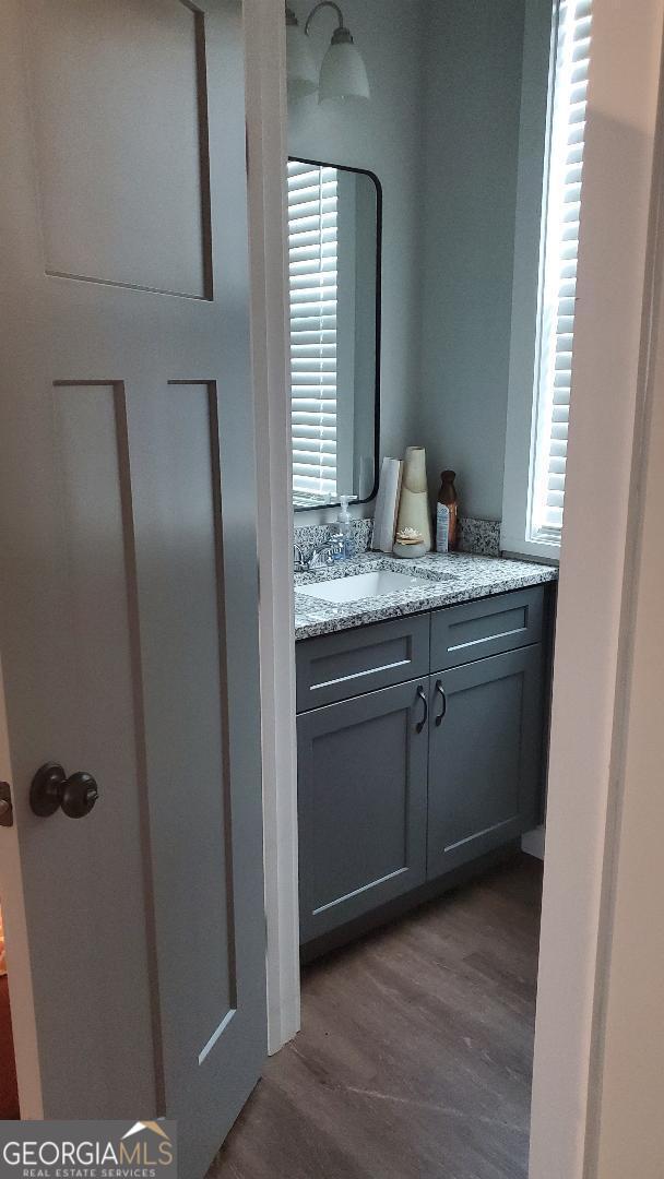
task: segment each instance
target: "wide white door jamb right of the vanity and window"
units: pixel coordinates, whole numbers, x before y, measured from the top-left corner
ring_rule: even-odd
[[[565,480],[531,1179],[581,1179],[594,1117],[603,904],[636,562],[663,0],[594,0]],[[636,440],[636,444],[635,444]]]

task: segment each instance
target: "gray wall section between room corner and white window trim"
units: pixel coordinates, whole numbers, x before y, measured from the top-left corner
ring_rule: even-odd
[[[421,403],[434,494],[500,519],[524,0],[427,5]]]

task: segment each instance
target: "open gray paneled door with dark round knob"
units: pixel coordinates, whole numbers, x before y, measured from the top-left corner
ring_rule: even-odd
[[[0,15],[0,646],[44,1113],[177,1118],[190,1179],[265,1052],[241,4]],[[87,817],[32,814],[48,760],[94,775]]]

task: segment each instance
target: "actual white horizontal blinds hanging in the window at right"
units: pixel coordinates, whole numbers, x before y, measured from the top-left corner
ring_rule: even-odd
[[[561,0],[552,78],[531,536],[563,527],[592,0]]]

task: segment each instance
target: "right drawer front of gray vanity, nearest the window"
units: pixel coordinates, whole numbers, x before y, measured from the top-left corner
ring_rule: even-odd
[[[533,586],[435,611],[432,614],[432,671],[458,667],[539,643],[543,601],[543,586]]]

